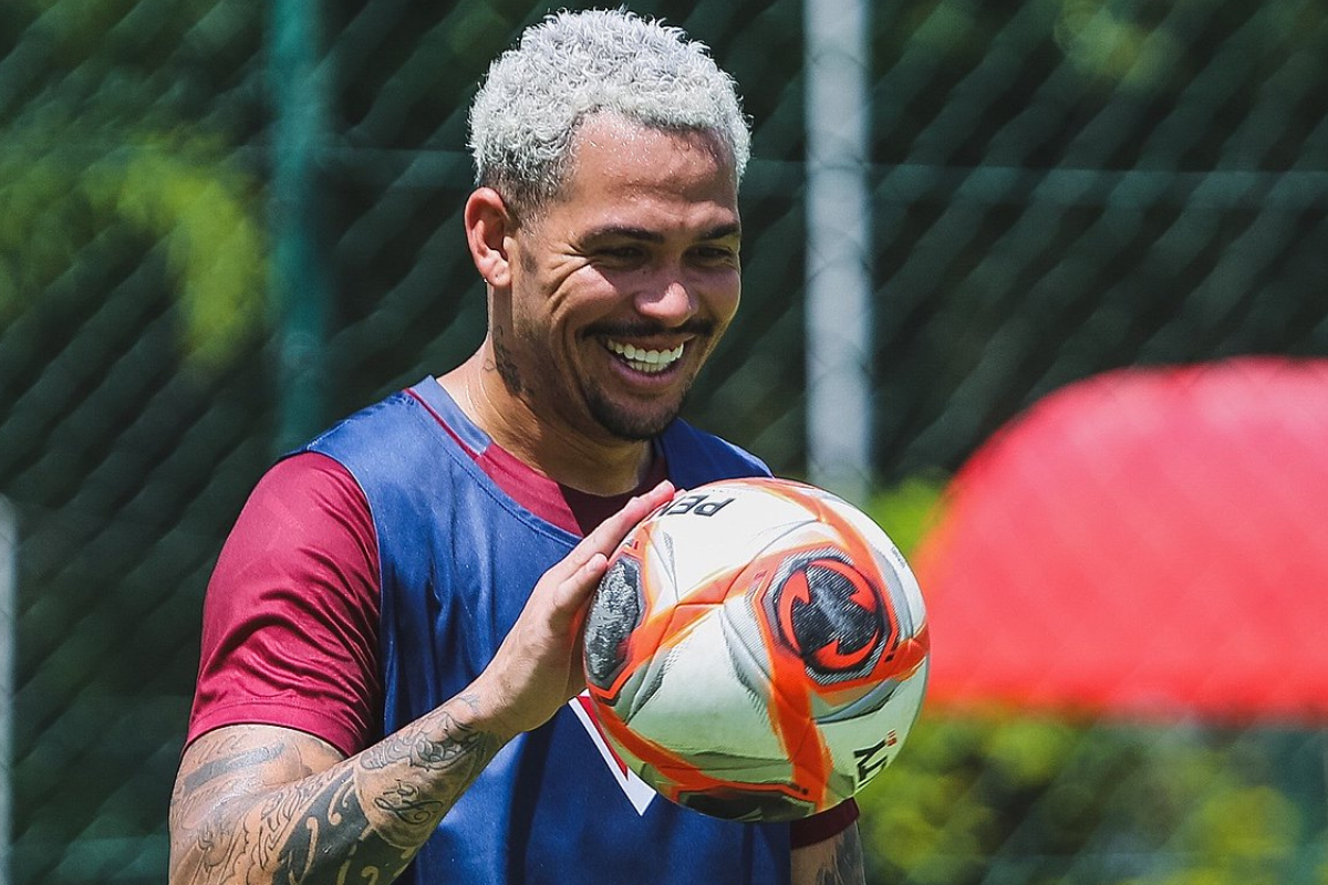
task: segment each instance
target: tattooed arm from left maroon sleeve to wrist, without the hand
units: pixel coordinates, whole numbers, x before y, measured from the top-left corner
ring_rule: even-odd
[[[340,762],[243,727],[201,748],[173,801],[171,884],[392,881],[506,742],[473,713],[461,695]]]

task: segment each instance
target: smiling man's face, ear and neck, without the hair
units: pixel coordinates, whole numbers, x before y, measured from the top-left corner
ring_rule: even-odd
[[[738,306],[732,151],[603,111],[543,207],[471,194],[489,337],[442,385],[494,442],[583,491],[636,487]]]

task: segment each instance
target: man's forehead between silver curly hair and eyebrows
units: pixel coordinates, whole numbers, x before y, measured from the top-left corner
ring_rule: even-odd
[[[640,202],[736,212],[737,172],[728,149],[706,131],[655,129],[612,115],[587,119],[572,135],[571,163],[554,207]]]

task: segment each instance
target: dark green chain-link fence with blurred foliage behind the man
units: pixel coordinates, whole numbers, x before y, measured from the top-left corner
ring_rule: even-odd
[[[712,45],[756,125],[744,306],[689,417],[799,475],[802,5],[635,5]],[[546,9],[0,9],[13,881],[158,882],[220,541],[283,446],[478,342],[465,107]],[[870,27],[896,531],[1068,382],[1328,356],[1328,1],[886,0]],[[935,711],[863,832],[876,882],[1317,882],[1324,795],[1315,732]]]

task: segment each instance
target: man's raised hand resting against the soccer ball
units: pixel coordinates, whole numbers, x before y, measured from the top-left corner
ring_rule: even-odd
[[[503,738],[530,731],[586,687],[582,669],[586,606],[614,548],[673,498],[673,484],[665,480],[632,498],[539,579],[494,659],[471,686],[471,697],[479,706],[475,713],[490,720],[491,730]]]

